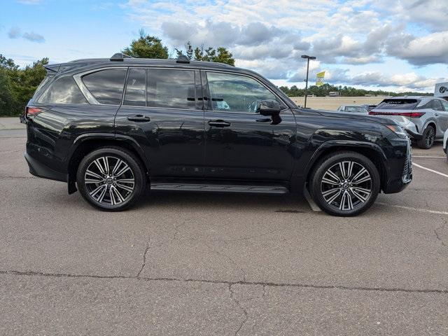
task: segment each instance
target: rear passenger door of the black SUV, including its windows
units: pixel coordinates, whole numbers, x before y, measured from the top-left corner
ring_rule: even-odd
[[[130,68],[116,134],[132,137],[151,176],[204,176],[204,110],[200,72]]]

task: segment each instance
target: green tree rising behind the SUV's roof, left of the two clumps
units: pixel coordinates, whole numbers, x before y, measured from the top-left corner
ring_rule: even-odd
[[[139,39],[132,40],[130,46],[122,50],[124,54],[138,58],[168,58],[168,48],[160,38],[147,35],[143,29],[139,32]]]

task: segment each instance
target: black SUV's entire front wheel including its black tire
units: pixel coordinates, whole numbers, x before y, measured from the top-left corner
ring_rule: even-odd
[[[349,162],[353,162],[353,164]],[[345,177],[349,176],[349,178],[343,178],[342,168],[339,163],[342,163],[342,167],[344,167]],[[349,175],[350,165],[351,174]],[[366,172],[363,172],[363,169]],[[328,171],[335,174],[337,179],[329,176],[330,173]],[[362,174],[356,177],[358,173]],[[323,181],[324,176],[325,180]],[[330,180],[328,177],[330,177]],[[358,182],[363,180],[366,181]],[[340,182],[331,184],[328,181]],[[379,193],[380,183],[378,169],[372,161],[356,152],[340,151],[328,155],[318,162],[309,180],[309,192],[318,207],[327,214],[333,216],[356,216],[369,209],[375,202]],[[364,189],[364,191],[360,191],[361,189]],[[367,195],[365,190],[370,190],[370,193]],[[325,193],[327,195],[324,195]],[[327,197],[326,200],[325,197]],[[331,200],[332,197],[336,197],[335,200]],[[350,200],[347,197],[350,197]],[[344,204],[342,209],[340,204]]]

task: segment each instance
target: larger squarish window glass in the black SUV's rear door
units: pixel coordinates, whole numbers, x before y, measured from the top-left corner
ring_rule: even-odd
[[[147,86],[147,106],[197,109],[193,70],[148,69]]]

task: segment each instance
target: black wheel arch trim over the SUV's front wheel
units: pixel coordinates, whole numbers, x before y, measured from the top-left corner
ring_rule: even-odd
[[[305,169],[304,183],[309,183],[312,172],[316,169],[318,163],[325,158],[325,156],[339,151],[351,151],[368,158],[378,169],[381,190],[384,189],[387,181],[387,158],[384,151],[377,144],[362,142],[362,141],[326,141],[321,144],[311,156],[309,164]]]

